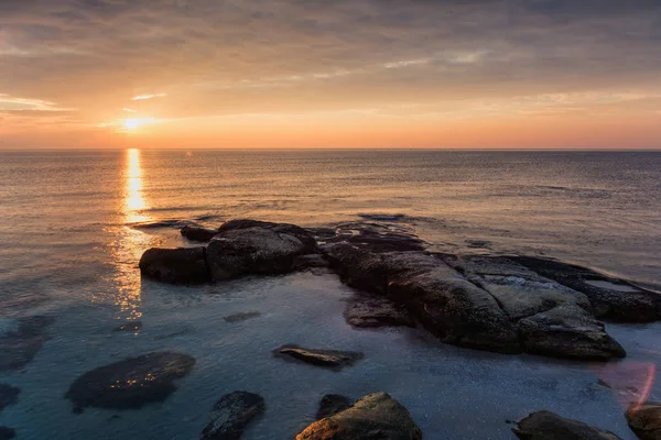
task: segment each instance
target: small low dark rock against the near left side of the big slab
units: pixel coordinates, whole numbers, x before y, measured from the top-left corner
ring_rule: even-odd
[[[347,323],[358,328],[415,327],[404,306],[378,296],[356,295],[347,304],[344,315]]]

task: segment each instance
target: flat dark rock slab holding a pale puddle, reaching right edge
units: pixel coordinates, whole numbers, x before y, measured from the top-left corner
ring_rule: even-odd
[[[616,322],[651,322],[661,319],[661,295],[625,279],[586,267],[533,256],[508,257],[538,274],[585,294],[595,316]]]

